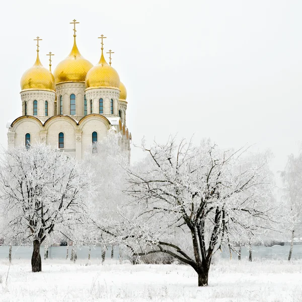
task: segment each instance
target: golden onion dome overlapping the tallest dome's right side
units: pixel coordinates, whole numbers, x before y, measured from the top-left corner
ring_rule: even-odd
[[[86,76],[87,89],[93,88],[113,88],[119,89],[120,80],[117,71],[109,66],[103,55],[100,58],[99,63],[92,67]]]

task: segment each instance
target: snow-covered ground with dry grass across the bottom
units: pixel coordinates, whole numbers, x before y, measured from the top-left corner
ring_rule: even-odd
[[[197,286],[185,265],[130,265],[107,261],[43,261],[32,273],[30,261],[0,262],[0,301],[207,301],[302,302],[302,261],[220,260],[209,286]]]

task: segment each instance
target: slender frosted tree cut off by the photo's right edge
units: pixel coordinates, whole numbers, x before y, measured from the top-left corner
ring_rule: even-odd
[[[287,210],[287,229],[291,233],[288,260],[291,259],[294,236],[302,234],[302,154],[290,155],[281,172],[284,208]]]

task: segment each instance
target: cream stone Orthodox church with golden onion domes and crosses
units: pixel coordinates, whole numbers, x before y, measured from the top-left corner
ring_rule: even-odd
[[[82,160],[86,152],[97,152],[95,142],[110,129],[121,134],[121,149],[129,153],[131,133],[126,127],[127,92],[117,71],[106,62],[101,35],[101,58],[97,65],[85,59],[76,43],[73,20],[73,46],[69,55],[51,72],[37,58],[21,78],[22,116],[8,124],[8,146],[29,147],[46,142],[53,148]]]

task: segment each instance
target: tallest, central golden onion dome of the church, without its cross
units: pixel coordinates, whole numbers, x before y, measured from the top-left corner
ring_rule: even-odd
[[[85,82],[86,74],[92,66],[93,64],[81,55],[74,36],[71,52],[54,69],[55,84]]]

